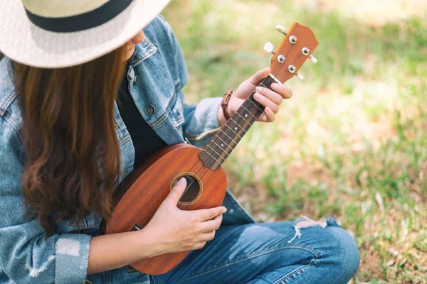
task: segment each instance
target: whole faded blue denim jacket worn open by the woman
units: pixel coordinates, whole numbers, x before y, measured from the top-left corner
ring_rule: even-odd
[[[181,48],[172,28],[161,16],[144,28],[144,41],[129,60],[129,90],[139,112],[169,145],[204,146],[218,130],[221,98],[184,102],[181,88],[188,76]],[[120,180],[133,170],[135,149],[120,118],[117,104],[115,129],[120,144]],[[26,159],[22,143],[21,109],[14,92],[11,61],[0,61],[0,283],[82,283],[88,268],[90,234],[101,219],[90,214],[84,222],[61,222],[56,234],[46,239],[38,219],[23,214],[21,174]],[[223,223],[253,222],[251,216],[227,193],[228,212]],[[117,270],[115,270],[117,271]]]

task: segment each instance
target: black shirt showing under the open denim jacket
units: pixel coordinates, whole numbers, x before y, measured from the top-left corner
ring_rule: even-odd
[[[127,75],[124,76],[119,89],[117,107],[135,148],[134,168],[137,168],[149,155],[164,148],[167,143],[154,132],[139,113],[129,92]]]

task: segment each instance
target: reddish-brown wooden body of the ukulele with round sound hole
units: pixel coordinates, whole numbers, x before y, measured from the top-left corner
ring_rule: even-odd
[[[130,173],[120,187],[128,188],[107,222],[107,234],[142,229],[159,208],[179,178],[193,182],[177,204],[179,209],[196,210],[220,206],[226,195],[222,168],[211,170],[199,159],[201,149],[186,143],[168,146]],[[196,184],[199,186],[197,187]],[[189,185],[187,185],[189,188]],[[150,275],[170,271],[189,251],[146,258],[131,266]]]

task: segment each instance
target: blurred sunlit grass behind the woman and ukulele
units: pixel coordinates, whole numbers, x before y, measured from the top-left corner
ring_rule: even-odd
[[[225,164],[260,222],[337,215],[362,255],[353,283],[427,283],[427,1],[174,0],[188,102],[270,65],[292,22],[320,42],[294,96]]]

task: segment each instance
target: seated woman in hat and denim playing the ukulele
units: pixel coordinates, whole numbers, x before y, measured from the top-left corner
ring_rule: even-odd
[[[185,104],[181,49],[155,16],[167,2],[0,3],[0,282],[347,283],[359,253],[334,219],[255,224],[229,192],[222,207],[181,211],[184,180],[144,229],[102,234],[133,168],[184,137],[203,146],[270,72],[223,108]],[[272,88],[257,89],[260,121],[292,95]],[[164,275],[128,266],[187,250]]]

